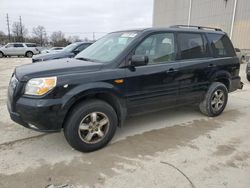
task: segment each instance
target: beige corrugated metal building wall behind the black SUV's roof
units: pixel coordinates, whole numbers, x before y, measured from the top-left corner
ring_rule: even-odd
[[[250,0],[154,0],[153,26],[178,24],[221,28],[250,49]]]

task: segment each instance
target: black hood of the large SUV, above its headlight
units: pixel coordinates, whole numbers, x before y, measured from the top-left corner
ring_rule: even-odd
[[[27,81],[35,77],[91,72],[101,68],[101,63],[67,58],[22,65],[16,68],[15,74],[18,80]]]

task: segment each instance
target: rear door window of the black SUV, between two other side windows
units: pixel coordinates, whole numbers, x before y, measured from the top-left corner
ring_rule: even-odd
[[[180,59],[205,58],[209,56],[206,39],[200,33],[178,33]]]

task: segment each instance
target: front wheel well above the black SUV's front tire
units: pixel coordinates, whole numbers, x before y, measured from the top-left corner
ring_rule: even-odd
[[[62,124],[62,128],[64,127],[65,122],[67,121],[68,116],[70,115],[70,113],[72,112],[72,110],[79,105],[81,102],[85,101],[85,100],[89,100],[89,99],[99,99],[99,100],[103,100],[105,102],[107,102],[110,106],[112,106],[117,114],[117,118],[119,120],[119,124],[118,126],[121,126],[125,117],[126,117],[126,111],[124,111],[124,105],[122,103],[122,100],[117,97],[114,94],[110,94],[110,93],[95,93],[95,94],[89,94],[86,96],[83,96],[81,98],[79,98],[78,100],[74,101],[74,103],[70,106],[69,110],[67,111],[63,124]]]

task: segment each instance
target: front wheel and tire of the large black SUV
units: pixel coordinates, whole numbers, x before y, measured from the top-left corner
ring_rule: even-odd
[[[101,126],[101,122],[105,122],[104,118],[108,123]],[[92,121],[93,119],[96,120],[96,125],[92,123],[95,122]],[[77,105],[71,111],[64,126],[64,135],[68,143],[76,150],[91,152],[109,143],[117,125],[117,114],[108,103],[101,100],[89,100]],[[103,133],[102,137],[99,134],[100,131]]]

